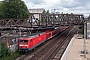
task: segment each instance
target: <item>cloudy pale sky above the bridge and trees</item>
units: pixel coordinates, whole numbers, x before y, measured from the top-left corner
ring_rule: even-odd
[[[1,1],[1,0],[0,0]],[[28,9],[44,8],[60,13],[90,15],[90,0],[23,0]]]

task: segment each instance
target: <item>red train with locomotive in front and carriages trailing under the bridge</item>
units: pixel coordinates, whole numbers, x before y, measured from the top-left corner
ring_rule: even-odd
[[[56,28],[55,30],[46,30],[45,32],[38,33],[28,37],[20,37],[18,39],[18,48],[19,51],[28,51],[32,50],[33,48],[37,47],[41,43],[45,42],[46,40],[54,37],[59,32],[65,30],[67,27],[63,26],[60,28]]]

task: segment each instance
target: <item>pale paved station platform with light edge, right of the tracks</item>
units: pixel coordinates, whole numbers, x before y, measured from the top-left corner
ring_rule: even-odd
[[[83,49],[84,39],[78,38],[78,35],[75,35],[61,60],[90,60],[90,39],[86,40],[86,50],[88,51],[86,58],[85,54],[81,53]]]

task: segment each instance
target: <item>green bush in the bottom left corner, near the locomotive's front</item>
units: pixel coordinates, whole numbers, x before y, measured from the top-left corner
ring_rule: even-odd
[[[18,51],[15,51],[11,54],[5,43],[0,45],[0,60],[14,60],[17,56],[19,56]]]

